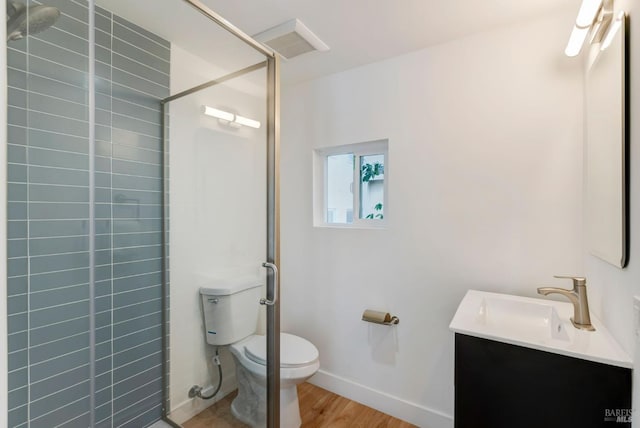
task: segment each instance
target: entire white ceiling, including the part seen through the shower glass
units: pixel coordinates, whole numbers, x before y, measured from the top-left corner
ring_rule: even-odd
[[[329,52],[283,61],[284,83],[381,61],[554,11],[575,8],[577,13],[580,6],[580,0],[202,1],[249,35],[298,18],[329,45]],[[211,22],[180,0],[99,0],[98,4],[204,57],[207,51],[216,50],[210,60],[224,57],[225,69],[253,64],[259,57],[241,49],[241,43],[212,28]],[[567,36],[571,24],[567,22]]]

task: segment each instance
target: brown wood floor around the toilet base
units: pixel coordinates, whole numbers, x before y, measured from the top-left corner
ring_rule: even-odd
[[[184,428],[241,428],[231,414],[236,393],[227,395],[183,424]],[[298,386],[302,428],[410,428],[414,425],[336,395],[310,383]]]

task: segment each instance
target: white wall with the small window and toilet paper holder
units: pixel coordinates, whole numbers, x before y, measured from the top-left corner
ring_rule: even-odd
[[[319,348],[314,382],[452,426],[448,324],[466,290],[533,296],[583,271],[575,13],[285,87],[282,325]],[[382,138],[388,227],[314,228],[312,150]],[[400,324],[366,324],[365,308]]]

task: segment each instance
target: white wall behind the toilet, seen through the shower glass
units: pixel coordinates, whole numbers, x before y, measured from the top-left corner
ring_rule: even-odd
[[[172,94],[227,72],[177,45],[171,48]],[[170,108],[171,417],[182,423],[235,389],[231,355],[221,350],[223,389],[214,400],[191,400],[200,385],[218,381],[205,344],[199,287],[213,278],[263,274],[266,250],[266,143],[258,130],[220,125],[201,106],[225,109],[264,123],[266,101],[255,92],[265,70],[172,101]],[[231,86],[232,85],[232,86]],[[264,88],[264,83],[262,88]],[[258,302],[256,302],[258,310]]]

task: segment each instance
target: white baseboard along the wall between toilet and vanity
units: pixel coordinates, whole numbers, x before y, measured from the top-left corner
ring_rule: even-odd
[[[308,382],[419,427],[453,428],[452,415],[403,400],[324,370],[318,370]]]

